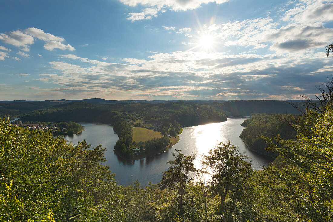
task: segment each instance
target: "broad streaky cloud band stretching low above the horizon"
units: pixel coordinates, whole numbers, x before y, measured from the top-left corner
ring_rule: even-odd
[[[147,59],[125,58],[122,63],[101,62],[72,54],[60,57],[87,64],[50,62],[55,72],[41,74],[40,81],[59,84],[64,93],[89,94],[98,90],[102,95],[112,93],[122,98],[148,95],[164,98],[179,95],[190,99],[296,98],[304,91],[311,92],[313,85],[323,79],[319,80],[319,77],[333,69],[319,53],[228,55],[225,52],[179,51],[154,53]],[[299,81],[290,82],[289,78]]]

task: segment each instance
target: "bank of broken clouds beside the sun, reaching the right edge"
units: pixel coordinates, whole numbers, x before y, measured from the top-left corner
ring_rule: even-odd
[[[244,47],[246,50],[269,47],[282,53],[324,48],[333,39],[333,28],[326,28],[320,23],[291,22],[281,27],[270,17],[203,25],[196,35],[191,28],[181,28],[177,33],[196,37],[182,42],[184,45],[198,44],[200,36],[208,35],[218,46]]]

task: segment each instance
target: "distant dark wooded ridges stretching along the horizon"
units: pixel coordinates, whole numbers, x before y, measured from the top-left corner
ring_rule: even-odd
[[[111,110],[129,112],[129,113],[140,113],[142,109],[147,109],[148,113],[154,113],[155,111],[166,111],[165,107],[170,106],[171,104],[197,104],[199,108],[204,110],[217,110],[227,116],[237,116],[237,115],[250,115],[251,113],[298,113],[297,110],[293,109],[290,104],[285,101],[275,101],[275,100],[240,100],[240,101],[145,101],[145,100],[130,100],[130,101],[117,101],[117,100],[103,100],[103,99],[85,99],[85,100],[60,100],[60,101],[0,101],[0,117],[10,115],[11,118],[21,116],[30,111],[46,109],[53,106],[66,105],[71,102],[76,103],[89,103],[94,104],[96,108],[110,107]],[[106,103],[106,104],[105,104]],[[163,105],[166,103],[165,105]],[[178,109],[178,108],[182,109]],[[200,115],[200,112],[195,112],[186,105],[180,106],[173,105],[171,106],[169,113],[177,114],[180,124],[188,124],[186,121],[191,120],[191,125],[193,124],[202,124],[202,120],[198,119],[197,116]],[[175,111],[178,109],[178,112]],[[180,119],[184,113],[182,110],[190,111],[191,115],[186,115],[183,121]],[[171,112],[170,112],[171,111]],[[147,114],[148,114],[147,113]],[[192,117],[190,117],[192,116]],[[183,116],[184,117],[184,116]],[[203,121],[207,118],[205,115]],[[188,119],[189,118],[189,119]],[[195,123],[194,121],[198,121]],[[204,123],[204,122],[203,122]]]

